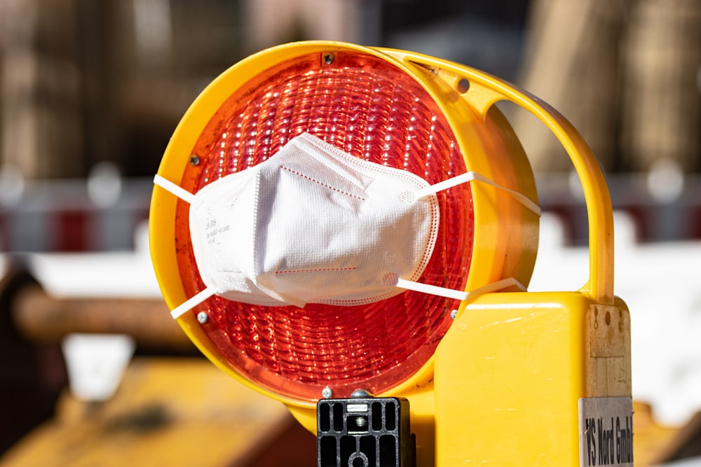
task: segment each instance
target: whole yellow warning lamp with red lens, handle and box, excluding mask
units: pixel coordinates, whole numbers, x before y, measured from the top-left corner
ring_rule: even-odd
[[[590,280],[579,291],[524,291],[538,244],[536,184],[499,101],[543,121],[580,176]],[[461,293],[304,307],[202,295],[190,206],[173,193],[189,199],[301,134],[431,186],[468,179],[437,193],[435,247],[418,279]],[[319,399],[356,389],[409,400],[420,466],[574,465],[603,455],[587,448],[587,424],[608,429],[615,414],[625,428],[629,317],[613,295],[608,189],[578,132],[536,97],[418,53],[290,43],[247,57],[202,92],[158,179],[175,188],[154,188],[151,255],[166,302],[184,310],[178,323],[215,365],[285,403],[310,431]]]

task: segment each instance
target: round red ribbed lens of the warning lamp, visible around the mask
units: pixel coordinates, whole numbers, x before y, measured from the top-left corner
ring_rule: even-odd
[[[275,64],[233,90],[192,148],[199,163],[186,168],[181,185],[196,193],[266,160],[302,132],[429,183],[466,170],[447,120],[409,74],[373,55],[315,53]],[[470,188],[452,188],[438,200],[439,235],[420,280],[464,289],[472,251]],[[204,284],[184,202],[175,221],[179,273],[191,296]],[[210,315],[203,329],[233,368],[275,393],[316,400],[325,386],[347,397],[358,388],[382,393],[400,384],[433,355],[458,305],[410,291],[369,305],[304,309],[215,295],[193,312]]]

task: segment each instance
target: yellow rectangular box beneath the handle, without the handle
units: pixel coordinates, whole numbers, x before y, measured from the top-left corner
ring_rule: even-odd
[[[435,465],[578,466],[578,400],[630,392],[622,301],[483,295],[435,353]]]

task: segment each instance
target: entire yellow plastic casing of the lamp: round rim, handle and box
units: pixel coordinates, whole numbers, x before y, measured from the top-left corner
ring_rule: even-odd
[[[419,466],[578,465],[578,399],[630,394],[629,315],[613,295],[613,214],[604,176],[580,134],[551,106],[499,78],[426,55],[329,41],[292,43],[252,55],[213,81],[182,118],[158,173],[171,181],[182,178],[189,151],[211,116],[261,69],[301,54],[339,50],[381,57],[413,76],[449,120],[468,170],[533,201],[529,162],[494,104],[505,100],[532,113],[570,156],[589,216],[587,284],[564,293],[470,298],[423,368],[379,396],[409,398]],[[505,277],[526,285],[536,256],[538,216],[484,183],[473,183],[472,197],[474,250],[466,289]],[[175,197],[154,190],[151,254],[171,307],[186,300],[175,256],[175,205]],[[193,314],[178,322],[219,368],[281,400],[315,432],[312,403],[252,384],[217,354]]]

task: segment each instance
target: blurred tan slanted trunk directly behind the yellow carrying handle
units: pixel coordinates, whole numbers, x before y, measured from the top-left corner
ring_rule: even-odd
[[[618,44],[632,0],[533,0],[521,85],[558,109],[607,169],[618,130]],[[571,162],[540,121],[517,114],[515,127],[536,170]]]

